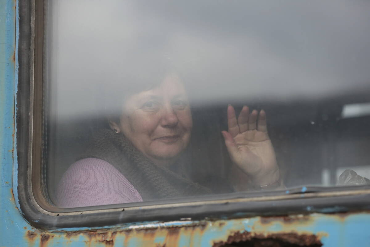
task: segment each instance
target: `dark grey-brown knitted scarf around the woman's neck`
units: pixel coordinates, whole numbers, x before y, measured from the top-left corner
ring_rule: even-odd
[[[144,201],[211,194],[211,190],[189,179],[184,161],[160,167],[145,157],[123,135],[102,129],[92,137],[81,158],[99,158],[112,164],[137,189]]]

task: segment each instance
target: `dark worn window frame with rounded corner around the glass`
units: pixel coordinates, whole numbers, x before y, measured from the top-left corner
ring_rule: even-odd
[[[143,221],[171,221],[369,210],[370,187],[297,187],[154,202],[58,208],[41,185],[47,85],[43,81],[44,0],[19,3],[17,157],[20,210],[40,229],[100,227]]]

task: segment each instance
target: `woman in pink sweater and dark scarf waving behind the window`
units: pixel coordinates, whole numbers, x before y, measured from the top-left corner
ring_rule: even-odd
[[[238,119],[227,109],[228,131],[222,131],[229,156],[254,187],[282,186],[275,152],[266,128],[265,111]],[[258,120],[258,121],[257,121]],[[130,203],[215,193],[192,181],[182,158],[189,144],[192,115],[181,80],[167,74],[149,90],[124,100],[110,129],[99,131],[81,160],[63,175],[57,187],[60,207]]]

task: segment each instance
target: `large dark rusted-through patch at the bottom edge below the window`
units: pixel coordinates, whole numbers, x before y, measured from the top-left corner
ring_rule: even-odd
[[[226,246],[252,246],[252,247],[320,247],[319,237],[314,234],[273,233],[252,234],[248,231],[230,235],[226,241],[213,244],[213,247]]]

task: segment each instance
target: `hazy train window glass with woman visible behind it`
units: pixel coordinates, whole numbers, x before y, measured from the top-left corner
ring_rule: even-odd
[[[361,0],[48,1],[51,201],[369,184],[369,10]]]

